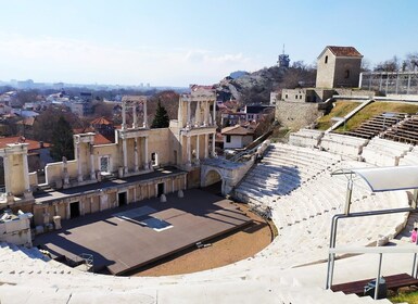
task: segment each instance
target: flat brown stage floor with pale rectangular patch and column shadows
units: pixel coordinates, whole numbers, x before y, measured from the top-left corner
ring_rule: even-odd
[[[122,275],[250,224],[231,201],[198,189],[143,200],[62,221],[62,229],[37,236],[54,256],[89,253],[94,270]]]

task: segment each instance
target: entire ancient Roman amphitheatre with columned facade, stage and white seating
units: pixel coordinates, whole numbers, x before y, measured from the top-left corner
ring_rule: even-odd
[[[360,59],[349,47],[322,55],[327,64],[354,58],[351,73],[335,65],[346,81]],[[76,160],[47,166],[48,187],[27,172],[25,143],[10,144],[1,204],[16,215],[2,226],[10,239],[0,249],[1,303],[373,303],[384,286],[416,284],[417,76],[408,94],[376,77],[396,94],[379,97],[371,83],[325,100],[325,89],[287,91],[276,117],[288,136],[262,138],[231,160],[215,153],[216,100],[203,86],[180,97],[166,129],[148,127],[147,100],[126,97],[124,111],[144,115],[124,121],[114,144],[76,135]],[[317,111],[325,115],[311,119]],[[216,183],[223,197],[200,189]],[[52,257],[89,255],[73,268],[33,244]],[[124,276],[156,257],[166,269]],[[193,264],[208,266],[181,271]],[[81,269],[94,265],[109,274]],[[358,296],[377,277],[385,283]]]

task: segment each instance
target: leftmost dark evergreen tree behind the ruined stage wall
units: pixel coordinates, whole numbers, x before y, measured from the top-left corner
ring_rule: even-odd
[[[63,156],[74,160],[73,129],[64,116],[60,116],[52,131],[51,156],[61,161]]]

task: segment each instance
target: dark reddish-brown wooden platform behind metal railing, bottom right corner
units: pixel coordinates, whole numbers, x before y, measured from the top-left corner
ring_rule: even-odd
[[[385,276],[383,277],[387,282],[388,289],[397,289],[401,287],[407,287],[417,284],[418,286],[418,279],[415,279],[414,277],[407,275],[407,274],[401,274],[401,275],[393,275],[393,276]],[[360,280],[360,281],[354,281],[354,282],[347,282],[347,283],[341,283],[341,284],[334,284],[331,287],[332,291],[342,291],[345,294],[355,293],[357,295],[363,295],[365,286],[376,280],[376,278],[367,279],[367,280]]]

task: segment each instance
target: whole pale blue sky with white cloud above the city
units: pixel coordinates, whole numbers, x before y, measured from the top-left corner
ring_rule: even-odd
[[[0,80],[187,87],[313,64],[353,46],[372,66],[418,52],[417,0],[2,0]]]

